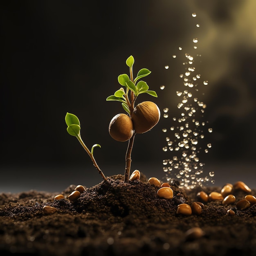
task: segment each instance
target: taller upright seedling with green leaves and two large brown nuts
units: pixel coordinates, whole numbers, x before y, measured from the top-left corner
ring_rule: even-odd
[[[151,71],[146,68],[139,70],[135,79],[133,78],[132,66],[133,56],[126,60],[130,70],[130,77],[127,74],[118,76],[118,82],[124,86],[117,90],[114,95],[107,98],[107,101],[119,101],[128,115],[121,113],[112,118],[109,125],[110,136],[117,141],[129,141],[126,151],[125,181],[130,176],[131,153],[136,133],[144,133],[153,128],[159,121],[160,110],[152,101],[144,101],[135,107],[135,101],[139,94],[147,93],[157,97],[155,91],[148,90],[146,82],[141,81],[142,77],[148,76]],[[140,80],[140,81],[139,81]]]

